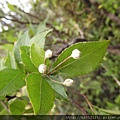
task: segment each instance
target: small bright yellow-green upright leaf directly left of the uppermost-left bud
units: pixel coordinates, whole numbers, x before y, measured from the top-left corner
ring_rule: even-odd
[[[32,44],[30,48],[30,54],[31,60],[36,67],[44,63],[45,52],[37,44]]]

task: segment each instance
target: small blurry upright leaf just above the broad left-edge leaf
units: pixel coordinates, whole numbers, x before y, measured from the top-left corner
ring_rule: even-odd
[[[6,58],[6,60],[5,60],[5,66],[6,66],[7,68],[16,69],[15,58],[14,58],[14,56],[12,55],[12,53],[9,52],[9,51],[8,51],[7,58]]]

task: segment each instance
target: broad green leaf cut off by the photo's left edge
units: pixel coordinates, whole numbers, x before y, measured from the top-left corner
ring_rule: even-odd
[[[20,70],[6,68],[0,71],[0,96],[19,90],[25,85],[25,74]]]

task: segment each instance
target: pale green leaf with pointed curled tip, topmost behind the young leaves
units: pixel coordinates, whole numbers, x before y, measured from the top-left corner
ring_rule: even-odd
[[[30,40],[30,45],[32,45],[33,43],[36,43],[38,44],[41,48],[44,48],[44,45],[45,45],[45,37],[47,36],[47,34],[49,32],[51,32],[52,29],[50,30],[46,30],[44,32],[41,32],[37,35],[35,35],[31,40]]]

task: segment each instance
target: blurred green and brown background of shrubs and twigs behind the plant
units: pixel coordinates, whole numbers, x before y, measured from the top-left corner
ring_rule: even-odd
[[[103,109],[119,111],[120,1],[0,0],[0,61],[25,31],[29,30],[32,37],[41,29],[50,28],[53,32],[46,38],[45,49],[53,50],[54,54],[76,40],[111,41],[99,68],[74,78],[75,83],[66,91],[89,114],[108,114]],[[94,105],[93,111],[83,95]],[[56,100],[49,114],[74,115],[81,111],[72,103]]]

